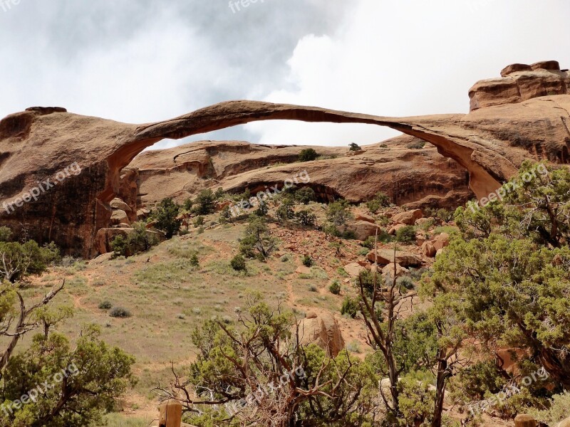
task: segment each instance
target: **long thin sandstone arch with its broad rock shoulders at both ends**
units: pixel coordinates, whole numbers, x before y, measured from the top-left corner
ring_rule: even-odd
[[[556,70],[534,73],[558,75]],[[567,83],[567,72],[559,73]],[[68,253],[96,255],[95,235],[100,228],[108,228],[113,215],[110,202],[120,196],[128,203],[120,178],[137,154],[161,139],[257,120],[391,127],[430,142],[440,154],[454,159],[467,170],[470,188],[482,198],[512,177],[524,159],[570,163],[570,95],[550,93],[493,107],[480,105],[467,115],[403,118],[232,101],[148,125],[74,115],[58,107],[33,107],[0,121],[0,221],[16,235],[25,230],[40,243],[56,241]],[[60,179],[71,164],[78,164],[81,174]],[[321,165],[331,168],[334,162]]]

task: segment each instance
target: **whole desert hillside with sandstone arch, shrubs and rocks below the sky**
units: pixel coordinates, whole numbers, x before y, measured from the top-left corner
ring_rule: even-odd
[[[0,426],[180,427],[164,402],[196,427],[570,417],[570,76],[501,75],[467,114],[2,119]],[[270,119],[403,135],[153,149]]]

